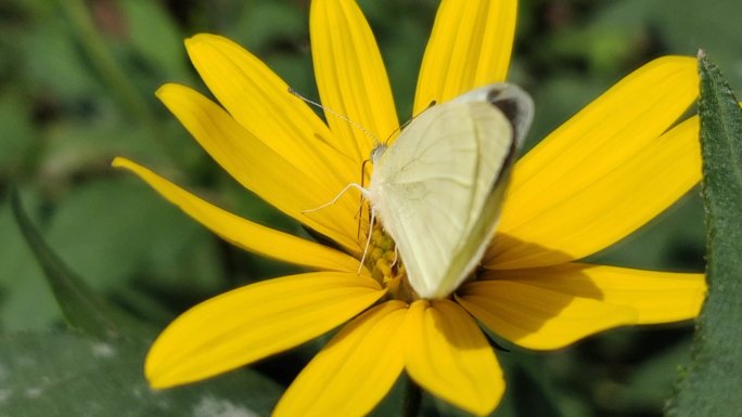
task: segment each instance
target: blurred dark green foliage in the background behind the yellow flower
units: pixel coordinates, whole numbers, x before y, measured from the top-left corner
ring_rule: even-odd
[[[359,2],[407,117],[438,2]],[[741,13],[739,0],[523,0],[511,80],[536,101],[529,143],[663,54],[704,49],[740,91]],[[230,247],[108,164],[130,157],[232,211],[302,233],[208,159],[153,92],[166,81],[207,92],[182,39],[208,31],[245,45],[295,90],[317,97],[307,21],[306,0],[0,2],[0,335],[64,328],[11,214],[11,184],[64,261],[157,328],[226,289],[295,271]],[[590,261],[698,272],[703,253],[703,208],[693,191]],[[617,329],[555,353],[499,352],[510,388],[498,413],[540,404],[533,415],[658,416],[688,359],[691,331],[690,324]],[[285,385],[316,349],[310,343],[258,369]],[[5,377],[0,372],[0,385]],[[428,398],[425,404],[430,415],[457,413]]]

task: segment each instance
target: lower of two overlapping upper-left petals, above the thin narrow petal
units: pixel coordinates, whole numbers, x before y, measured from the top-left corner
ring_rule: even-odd
[[[305,175],[285,155],[268,147],[221,107],[187,87],[166,84],[157,91],[157,96],[243,186],[351,251],[359,251],[355,218],[358,198],[343,196],[333,205],[304,212],[332,200],[345,184],[320,182]]]

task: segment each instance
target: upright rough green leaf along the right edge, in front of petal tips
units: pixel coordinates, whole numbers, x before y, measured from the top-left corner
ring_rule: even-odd
[[[669,416],[739,416],[742,409],[742,110],[721,73],[701,54],[701,144],[708,298],[692,363]]]

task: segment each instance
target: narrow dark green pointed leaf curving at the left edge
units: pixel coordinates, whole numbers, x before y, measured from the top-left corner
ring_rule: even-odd
[[[136,340],[149,333],[128,315],[107,304],[49,248],[24,211],[15,190],[11,192],[11,207],[71,327],[102,340],[118,337]]]

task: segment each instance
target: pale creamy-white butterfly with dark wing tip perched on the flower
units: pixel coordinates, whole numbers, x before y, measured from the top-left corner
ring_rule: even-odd
[[[447,297],[479,262],[533,113],[521,88],[495,83],[432,106],[373,149],[362,193],[421,298]]]

